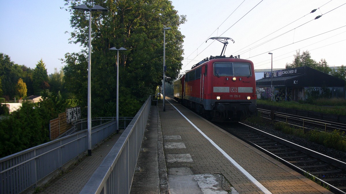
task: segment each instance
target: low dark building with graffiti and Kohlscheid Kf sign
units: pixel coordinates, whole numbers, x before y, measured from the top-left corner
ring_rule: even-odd
[[[346,88],[344,80],[304,66],[264,72],[264,77],[256,80],[256,94],[257,99],[275,101],[345,98]]]

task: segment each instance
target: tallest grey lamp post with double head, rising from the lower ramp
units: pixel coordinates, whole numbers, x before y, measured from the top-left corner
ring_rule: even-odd
[[[107,11],[99,5],[88,8],[85,4],[73,7],[75,10],[89,11],[89,56],[88,56],[88,155],[91,156],[91,12]]]

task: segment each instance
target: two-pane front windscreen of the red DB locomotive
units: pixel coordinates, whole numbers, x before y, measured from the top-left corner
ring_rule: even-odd
[[[252,76],[249,63],[214,63],[215,76]]]

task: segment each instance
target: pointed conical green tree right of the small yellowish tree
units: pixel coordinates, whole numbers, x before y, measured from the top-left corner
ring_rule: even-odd
[[[33,72],[34,94],[40,95],[43,90],[49,89],[46,65],[42,59],[38,61]]]

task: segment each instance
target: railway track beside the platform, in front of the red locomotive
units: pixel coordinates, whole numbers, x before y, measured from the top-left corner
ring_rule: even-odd
[[[304,148],[243,123],[217,124],[222,129],[312,179],[334,193],[346,194],[346,163]]]

